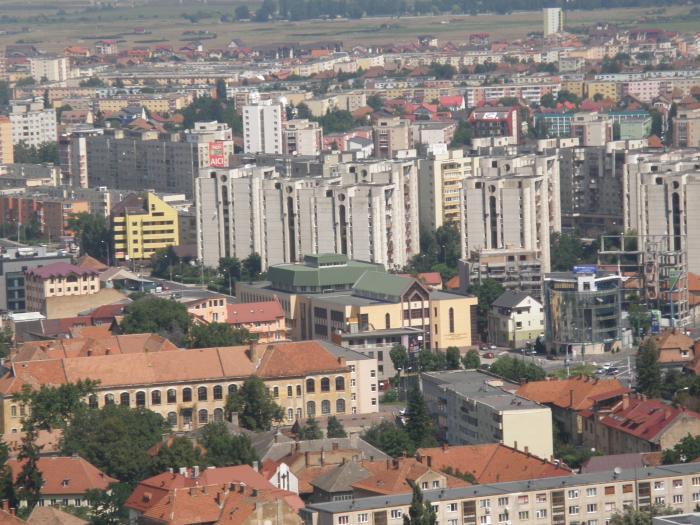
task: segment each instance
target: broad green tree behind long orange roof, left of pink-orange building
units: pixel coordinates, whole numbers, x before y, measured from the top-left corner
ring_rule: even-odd
[[[190,323],[184,304],[173,299],[144,297],[126,307],[121,330],[125,334],[157,333],[182,344]]]

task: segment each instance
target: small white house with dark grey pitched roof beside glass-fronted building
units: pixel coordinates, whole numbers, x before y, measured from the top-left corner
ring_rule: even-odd
[[[507,290],[491,305],[489,341],[498,346],[524,348],[544,335],[542,303],[526,292]]]

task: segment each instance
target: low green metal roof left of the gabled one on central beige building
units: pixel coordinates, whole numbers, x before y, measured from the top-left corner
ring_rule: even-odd
[[[332,256],[320,256],[323,258],[325,264],[333,264],[332,262],[326,261],[340,261],[340,259],[332,259]],[[345,258],[344,255],[338,257]],[[305,258],[306,259],[306,258]],[[345,263],[339,263],[332,266],[320,267],[312,265],[315,263],[305,263],[305,264],[278,264],[275,266],[270,266],[267,270],[267,278],[272,283],[273,288],[299,288],[307,287],[313,288],[319,287],[334,287],[343,286],[345,288],[354,284],[365,272],[367,273],[379,273],[381,275],[385,274],[384,266],[381,264],[373,264],[364,261],[348,261],[347,258],[344,259]],[[310,262],[310,261],[309,261]]]

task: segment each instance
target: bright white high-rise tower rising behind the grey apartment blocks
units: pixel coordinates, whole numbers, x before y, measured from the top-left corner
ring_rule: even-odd
[[[282,153],[284,106],[272,100],[243,106],[243,150],[246,153]]]

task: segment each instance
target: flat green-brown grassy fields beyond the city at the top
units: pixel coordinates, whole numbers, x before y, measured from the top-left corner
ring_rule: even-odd
[[[203,41],[207,48],[225,47],[237,38],[246,45],[281,42],[342,40],[353,44],[409,42],[416,35],[433,34],[442,41],[462,42],[470,33],[489,32],[493,38],[519,38],[540,31],[540,12],[510,15],[369,18],[362,20],[308,20],[301,22],[221,22],[222,15],[233,15],[240,3],[255,7],[255,2],[209,0],[208,3],[177,0],[134,0],[123,7],[97,8],[81,0],[0,0],[0,46],[17,42],[34,43],[47,51],[60,51],[70,44],[89,46],[99,38],[116,38],[124,47],[149,46],[168,42],[184,45],[196,35],[187,31],[208,31],[214,38]],[[676,31],[696,31],[700,18],[688,15],[689,7],[669,7],[662,15],[648,9],[606,9],[567,13],[567,27],[575,29],[595,22],[610,22],[624,27],[663,27]],[[196,15],[196,22],[185,16]],[[20,32],[28,27],[28,32]],[[145,28],[147,34],[136,34]]]

